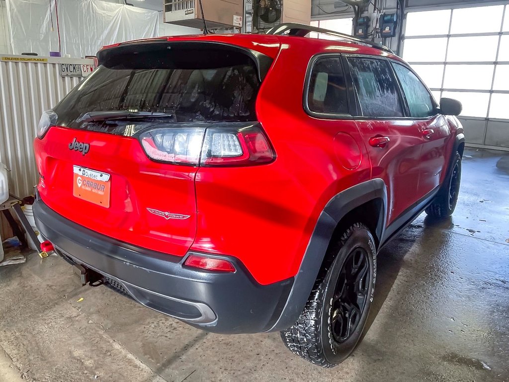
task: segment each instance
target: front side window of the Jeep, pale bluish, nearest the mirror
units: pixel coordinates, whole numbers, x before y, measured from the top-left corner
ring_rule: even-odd
[[[405,66],[396,63],[393,63],[392,66],[405,93],[410,116],[414,118],[434,116],[436,114],[435,105],[426,86]]]

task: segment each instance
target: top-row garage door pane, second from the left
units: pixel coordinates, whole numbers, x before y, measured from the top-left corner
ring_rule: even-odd
[[[455,9],[450,33],[500,32],[503,12],[503,5]]]

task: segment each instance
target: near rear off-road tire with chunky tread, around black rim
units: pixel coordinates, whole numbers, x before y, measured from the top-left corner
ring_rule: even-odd
[[[364,225],[356,223],[348,228],[340,240],[327,252],[325,269],[322,269],[309,299],[297,322],[280,332],[285,345],[295,354],[316,365],[329,368],[350,356],[359,341],[373,301],[376,280],[376,249],[373,235]],[[332,301],[340,272],[354,251],[365,251],[369,269],[364,307],[356,329],[344,342],[336,341],[332,333]],[[364,288],[364,290],[366,290]]]

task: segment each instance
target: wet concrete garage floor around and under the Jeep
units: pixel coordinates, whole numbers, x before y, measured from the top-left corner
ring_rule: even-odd
[[[63,260],[0,267],[0,381],[509,381],[509,153],[467,150],[458,208],[420,216],[378,256],[369,330],[321,369],[277,333],[207,334]],[[80,298],[83,301],[78,302]]]

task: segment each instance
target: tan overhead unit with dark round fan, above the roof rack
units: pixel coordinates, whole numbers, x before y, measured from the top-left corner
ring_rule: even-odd
[[[273,26],[311,22],[311,0],[252,0],[253,27],[264,32]]]

